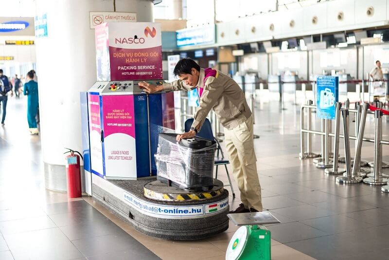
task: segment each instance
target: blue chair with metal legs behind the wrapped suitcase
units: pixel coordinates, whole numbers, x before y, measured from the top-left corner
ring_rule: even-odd
[[[185,132],[188,132],[191,129],[192,124],[193,124],[193,118],[189,118],[185,121]],[[215,164],[214,164],[216,166],[215,178],[217,179],[217,168],[219,167],[219,165],[224,165],[224,167],[226,167],[228,181],[230,182],[230,184],[225,185],[225,187],[230,186],[232,191],[232,197],[235,197],[235,192],[232,187],[232,183],[230,179],[230,173],[228,172],[228,168],[227,168],[227,165],[230,164],[230,161],[224,158],[223,150],[220,147],[220,144],[217,141],[217,139],[213,136],[211,122],[210,120],[208,120],[208,118],[205,119],[204,124],[201,127],[201,130],[196,134],[196,136],[216,141],[217,154],[215,156]]]

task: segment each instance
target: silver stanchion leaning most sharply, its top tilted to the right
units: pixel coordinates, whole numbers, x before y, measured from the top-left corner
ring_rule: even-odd
[[[358,109],[360,106],[358,106]],[[358,132],[355,134],[357,137],[356,139],[356,147],[355,147],[355,160],[354,160],[354,167],[353,167],[353,176],[360,176],[364,178],[367,174],[367,172],[364,172],[361,169],[361,150],[362,150],[362,142],[363,142],[363,133],[365,132],[365,125],[366,125],[366,116],[368,113],[369,104],[364,103],[362,107],[362,113],[359,120],[355,120],[355,124],[360,121]]]

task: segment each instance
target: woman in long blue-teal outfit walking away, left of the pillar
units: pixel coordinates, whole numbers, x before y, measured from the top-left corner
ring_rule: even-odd
[[[38,110],[38,83],[34,81],[34,73],[27,73],[26,83],[24,84],[24,95],[27,95],[27,120],[31,134],[38,134],[36,127],[36,111]]]

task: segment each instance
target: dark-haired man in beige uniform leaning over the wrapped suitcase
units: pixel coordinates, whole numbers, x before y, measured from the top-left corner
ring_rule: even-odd
[[[210,68],[201,69],[190,58],[179,60],[174,74],[179,80],[161,86],[146,82],[139,85],[147,93],[191,91],[198,88],[201,95],[200,104],[192,128],[189,132],[177,135],[177,141],[194,137],[213,109],[219,122],[225,127],[226,148],[230,155],[235,181],[241,192],[242,204],[230,213],[262,211],[261,186],[253,143],[253,118],[245,94],[229,76]]]

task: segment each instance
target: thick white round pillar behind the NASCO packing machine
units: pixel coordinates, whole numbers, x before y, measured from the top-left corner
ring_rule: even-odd
[[[46,187],[65,191],[66,148],[82,149],[80,95],[96,81],[94,29],[90,11],[114,11],[113,0],[35,0],[47,14],[48,36],[36,38],[41,146]],[[153,21],[152,0],[116,0],[116,12]]]

